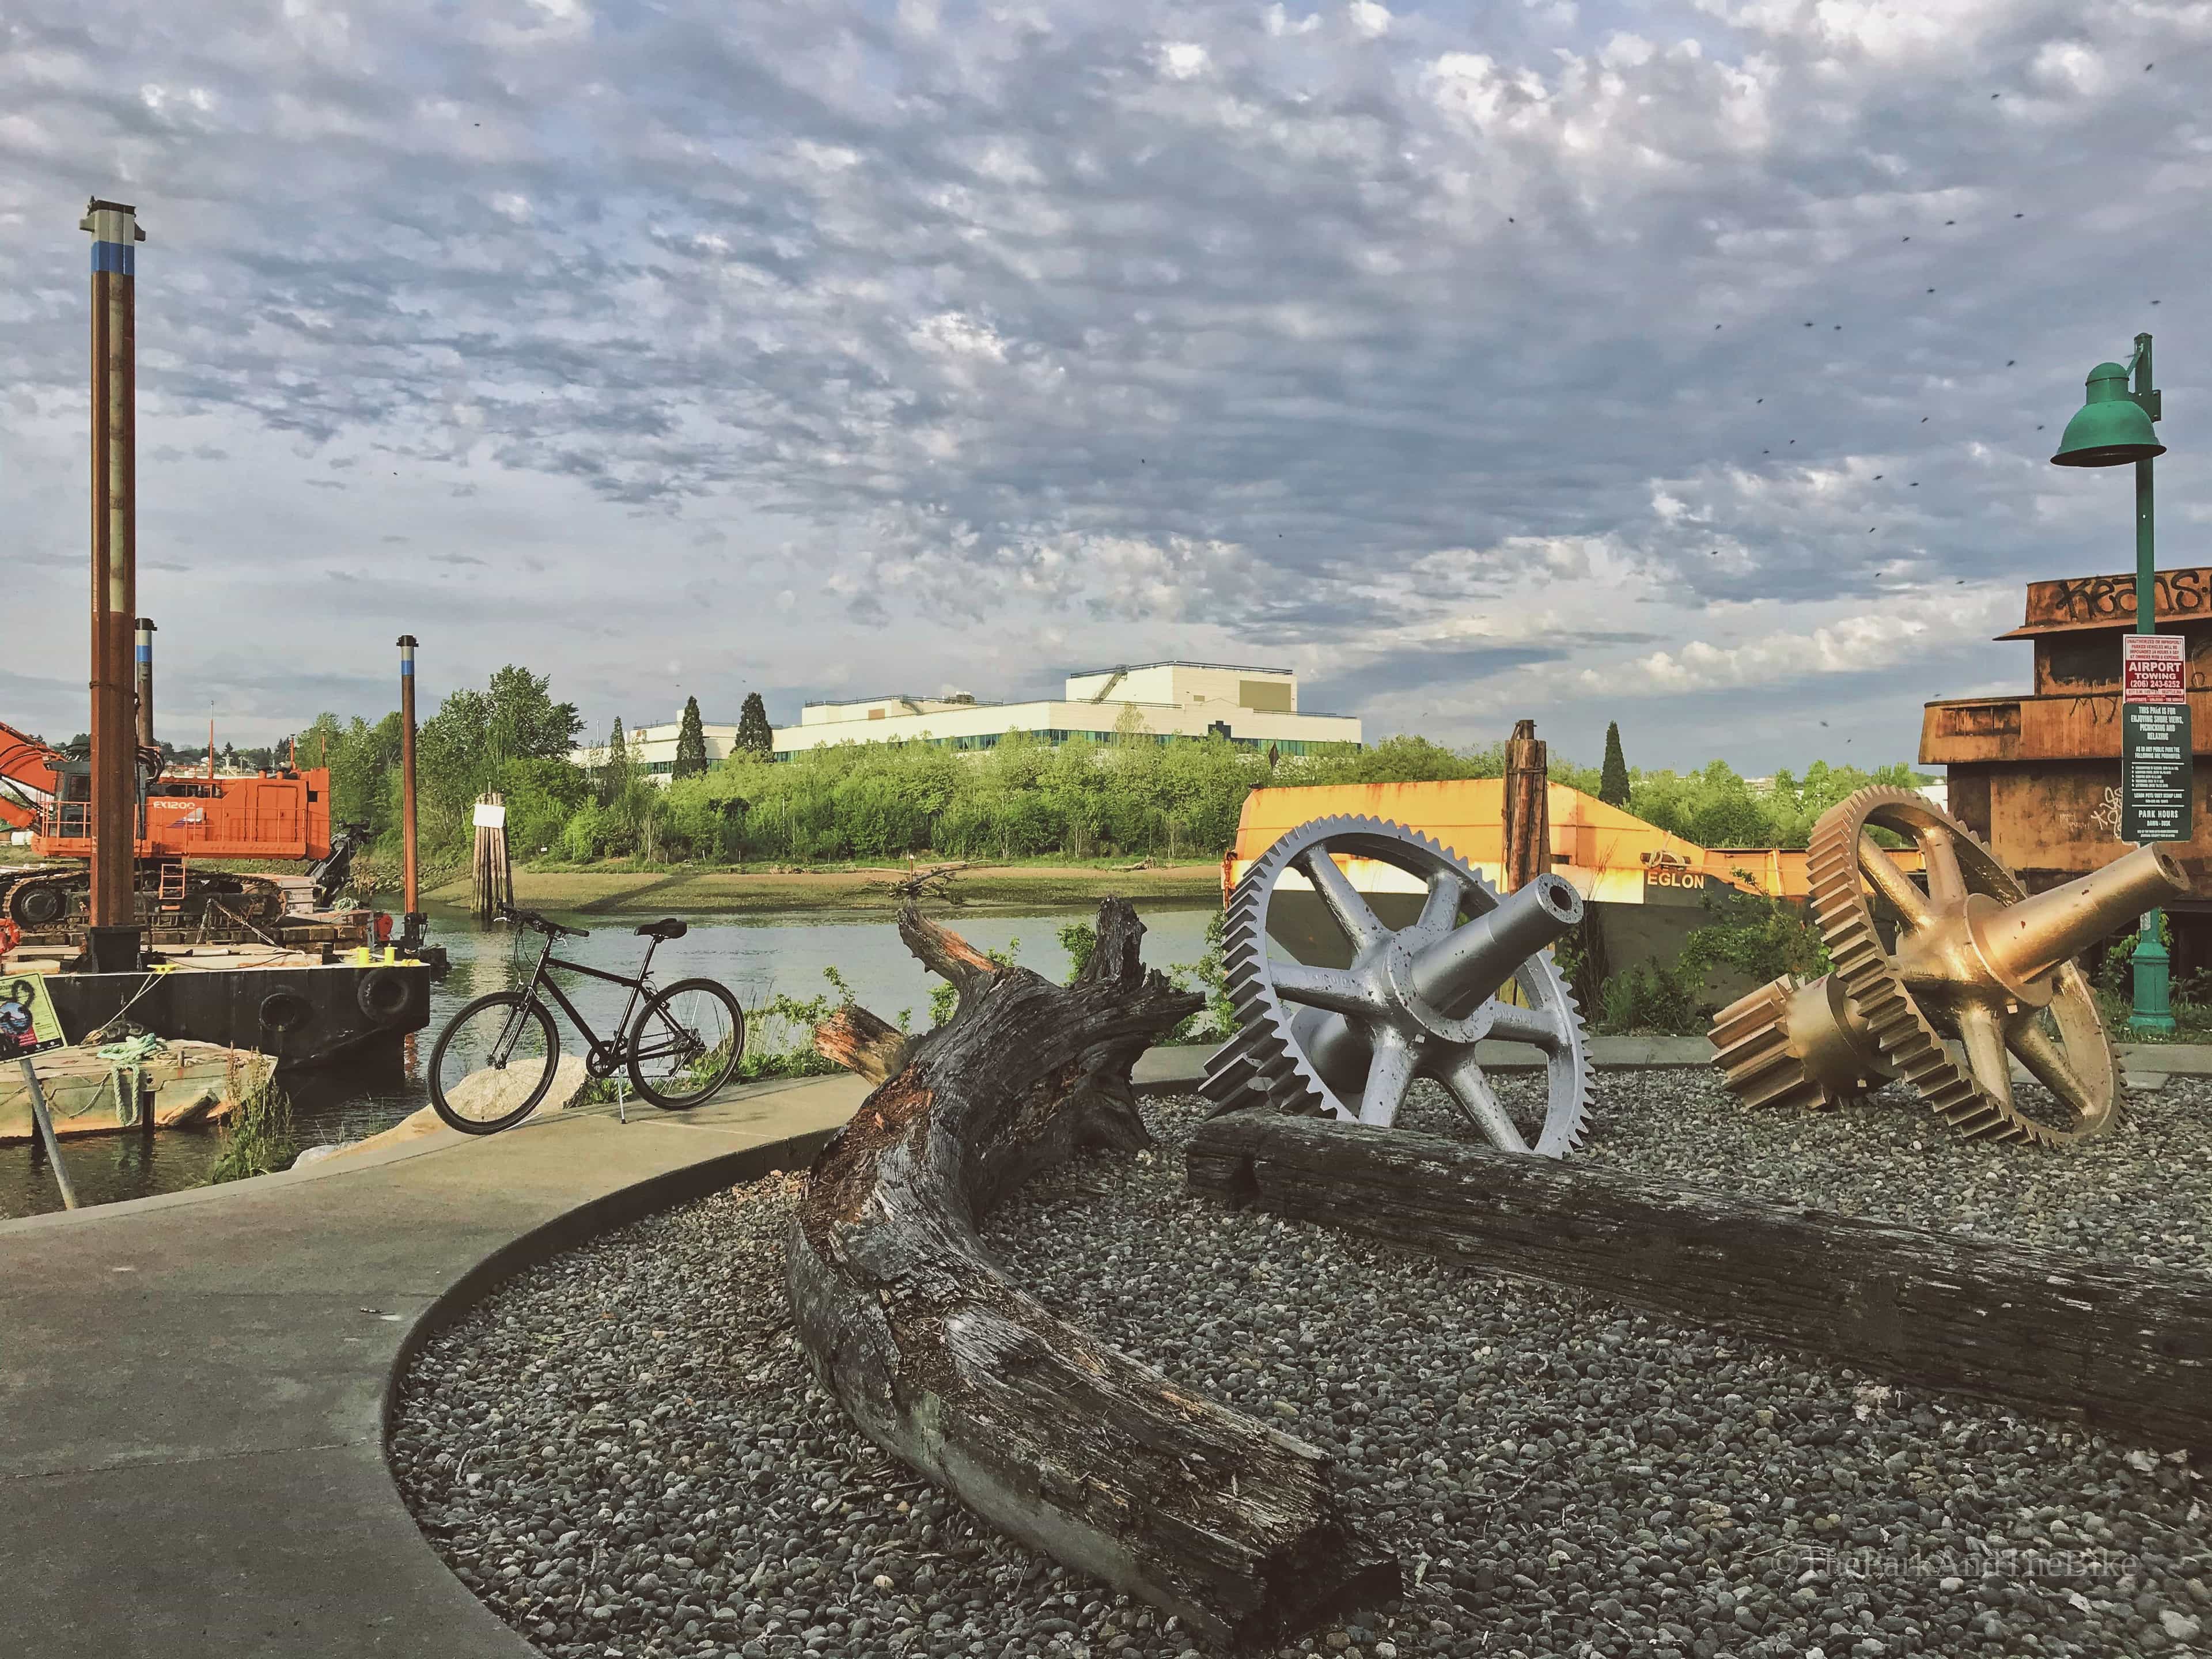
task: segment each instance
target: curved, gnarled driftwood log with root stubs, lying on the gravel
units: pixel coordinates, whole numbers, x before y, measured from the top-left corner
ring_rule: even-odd
[[[1073,984],[989,958],[907,907],[907,947],[960,991],[894,1051],[883,1022],[834,1046],[898,1062],[814,1164],[790,1241],[799,1336],[885,1451],[1002,1531],[1241,1646],[1398,1590],[1340,1520],[1329,1458],[1228,1411],[1006,1283],[978,1219],[1084,1148],[1150,1144],[1130,1066],[1199,1006],[1099,907]],[[891,1033],[898,1035],[898,1033]]]

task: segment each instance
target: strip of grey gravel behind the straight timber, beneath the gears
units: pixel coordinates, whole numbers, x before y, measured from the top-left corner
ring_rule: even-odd
[[[1526,1073],[1504,1075],[1498,1093],[1522,1121],[1542,1119]],[[1416,1086],[1398,1121],[1467,1135],[1433,1084]],[[2093,1141],[2037,1148],[1960,1139],[1900,1088],[1834,1113],[1754,1113],[1708,1068],[1608,1071],[1577,1159],[1913,1228],[2212,1272],[2212,1079],[2203,1077],[2130,1095],[2121,1121]]]

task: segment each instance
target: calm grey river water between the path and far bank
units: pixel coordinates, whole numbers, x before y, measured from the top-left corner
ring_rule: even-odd
[[[1139,905],[1146,925],[1144,960],[1152,967],[1197,962],[1206,951],[1206,922],[1212,907],[1177,907],[1168,902]],[[1064,980],[1068,953],[1060,947],[1060,929],[1088,922],[1095,907],[1066,907],[1033,914],[953,911],[945,920],[980,949],[1015,949],[1024,967]],[[573,927],[588,927],[591,938],[562,940],[560,956],[591,967],[635,973],[646,942],[633,931],[641,918],[560,916]],[[929,1024],[929,991],[940,984],[922,971],[887,911],[823,914],[792,911],[785,916],[701,916],[690,931],[653,953],[653,978],[670,984],[703,975],[728,984],[748,1011],[748,1046],[790,1046],[792,1031],[761,1029],[752,1011],[774,995],[814,998],[830,991],[823,969],[836,969],[852,984],[860,1006],[896,1020],[905,1009],[916,1029]],[[407,1040],[398,1062],[380,1068],[330,1066],[288,1073],[281,1082],[292,1097],[292,1119],[301,1146],[347,1141],[374,1135],[429,1104],[422,1093],[420,1060],[429,1057],[445,1022],[471,998],[518,984],[526,967],[518,967],[518,940],[507,927],[480,927],[467,911],[434,911],[431,942],[442,945],[453,971],[431,987],[429,1026]],[[526,945],[538,947],[535,933]],[[622,1013],[626,991],[580,973],[562,975],[562,989],[584,1015],[606,1033]],[[560,1009],[553,1011],[562,1046],[582,1053],[582,1040],[568,1029]],[[650,1108],[644,1108],[650,1110]],[[97,1135],[62,1144],[69,1177],[80,1203],[115,1203],[155,1192],[181,1192],[206,1183],[221,1137],[212,1130],[168,1130],[144,1135]],[[44,1155],[31,1146],[0,1146],[0,1219],[60,1210],[62,1194],[53,1183]]]

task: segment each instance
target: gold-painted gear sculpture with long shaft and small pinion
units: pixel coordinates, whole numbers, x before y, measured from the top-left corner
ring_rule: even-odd
[[[1927,889],[1876,827],[1918,845]],[[1902,1079],[1966,1137],[2062,1146],[2110,1126],[2119,1068],[2073,958],[2188,891],[2163,847],[2031,898],[1958,818],[1878,787],[1820,816],[1805,872],[1836,967],[1812,984],[1783,975],[1712,1022],[1714,1064],[1745,1104],[1827,1108]],[[2013,1060],[2070,1121],[2020,1110]]]

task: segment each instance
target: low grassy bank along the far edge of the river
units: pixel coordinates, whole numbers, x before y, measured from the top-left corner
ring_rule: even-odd
[[[582,914],[732,916],[743,911],[883,909],[898,907],[885,883],[905,869],[518,869],[515,902],[533,909]],[[1121,898],[1221,902],[1219,865],[1113,869],[1104,865],[991,865],[960,872],[958,894],[969,905],[1095,905]],[[467,878],[429,889],[440,905],[467,905]]]

